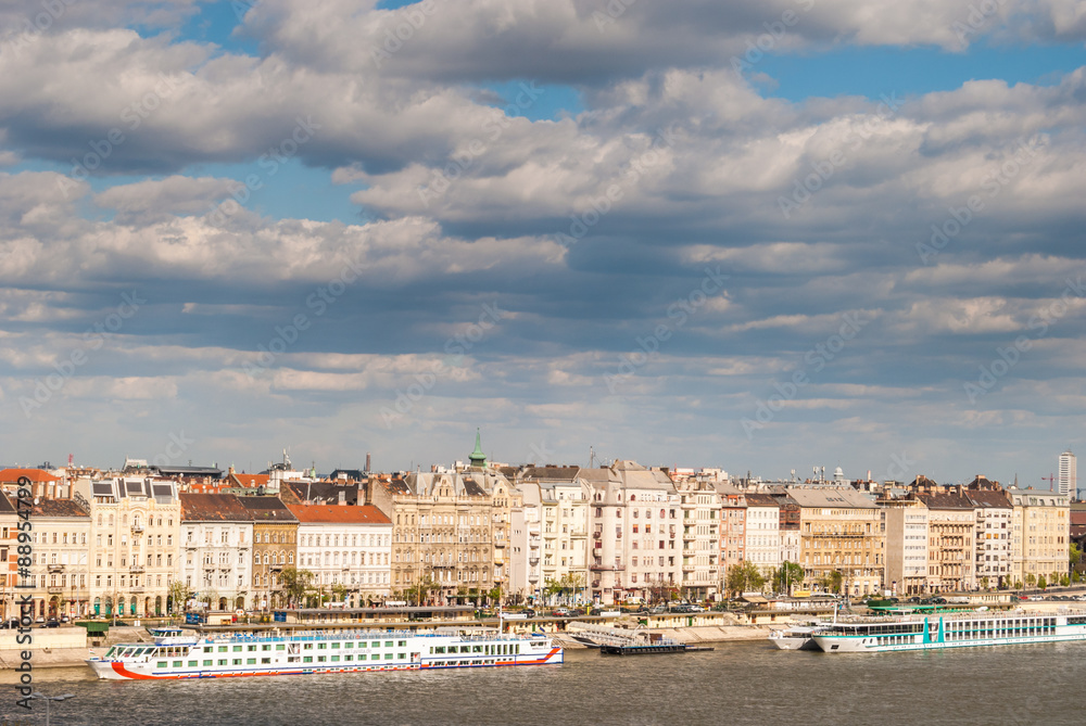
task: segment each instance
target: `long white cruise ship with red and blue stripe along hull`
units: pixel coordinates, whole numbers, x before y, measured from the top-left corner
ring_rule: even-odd
[[[550,665],[563,650],[543,634],[485,628],[434,633],[326,628],[247,631],[203,636],[179,627],[150,631],[154,642],[111,646],[87,664],[99,678],[226,678],[359,671]]]

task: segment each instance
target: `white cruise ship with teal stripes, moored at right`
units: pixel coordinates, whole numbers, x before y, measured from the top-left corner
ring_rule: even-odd
[[[969,612],[825,623],[811,637],[828,653],[1086,640],[1086,610],[1000,615]]]

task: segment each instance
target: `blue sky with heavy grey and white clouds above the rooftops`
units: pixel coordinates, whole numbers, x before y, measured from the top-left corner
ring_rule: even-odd
[[[1077,0],[0,3],[0,461],[1047,488]]]

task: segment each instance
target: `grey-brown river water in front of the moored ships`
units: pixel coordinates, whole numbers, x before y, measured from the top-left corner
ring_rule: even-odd
[[[705,653],[604,657],[563,665],[207,680],[97,680],[90,670],[34,672],[52,724],[1044,724],[1086,723],[1086,642],[899,653],[781,651],[716,644]],[[0,715],[43,724],[14,703]]]

